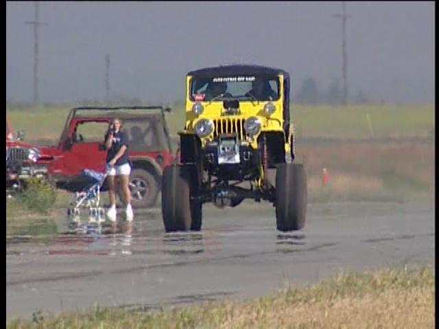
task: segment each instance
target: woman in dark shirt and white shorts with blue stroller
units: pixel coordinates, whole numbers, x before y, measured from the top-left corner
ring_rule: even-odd
[[[120,119],[113,119],[105,134],[105,145],[107,151],[106,172],[108,174],[108,196],[110,197],[110,209],[107,217],[110,221],[116,221],[116,192],[115,178],[117,178],[123,192],[126,204],[126,220],[132,221],[134,215],[131,208],[131,192],[128,186],[130,182],[130,161],[128,158],[128,136],[122,129]]]

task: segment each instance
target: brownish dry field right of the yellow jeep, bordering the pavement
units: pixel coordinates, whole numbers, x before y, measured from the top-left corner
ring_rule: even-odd
[[[297,156],[305,165],[311,202],[407,202],[433,195],[432,141],[304,143]],[[326,186],[323,168],[329,173]]]

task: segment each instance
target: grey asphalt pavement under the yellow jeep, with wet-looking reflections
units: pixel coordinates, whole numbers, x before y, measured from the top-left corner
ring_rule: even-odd
[[[276,230],[270,204],[203,207],[202,232],[165,233],[159,209],[132,230],[12,239],[6,314],[158,308],[267,295],[344,270],[434,265],[434,204],[309,204],[305,229]]]

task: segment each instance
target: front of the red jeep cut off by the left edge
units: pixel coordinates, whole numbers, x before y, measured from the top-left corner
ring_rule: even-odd
[[[6,193],[12,195],[21,190],[23,182],[27,178],[47,177],[47,167],[38,162],[45,160],[41,151],[35,145],[23,143],[24,132],[18,132],[14,136],[14,130],[10,125],[6,114]]]

